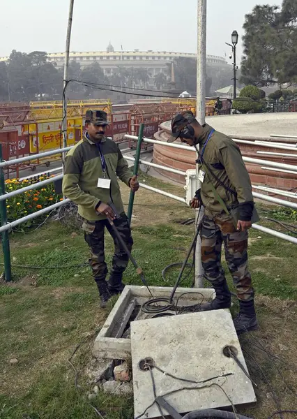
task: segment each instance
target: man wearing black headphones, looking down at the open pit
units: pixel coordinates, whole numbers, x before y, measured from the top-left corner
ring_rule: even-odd
[[[252,226],[254,201],[250,176],[241,152],[227,135],[211,126],[201,126],[192,112],[182,112],[172,119],[172,138],[199,145],[199,179],[191,206],[204,205],[201,222],[201,262],[204,276],[215,288],[215,299],[202,310],[231,306],[231,294],[221,264],[222,244],[229,271],[236,286],[240,311],[234,319],[238,334],[256,330],[254,290],[248,271],[248,229]],[[236,217],[236,214],[237,217]],[[257,217],[253,217],[257,221]]]

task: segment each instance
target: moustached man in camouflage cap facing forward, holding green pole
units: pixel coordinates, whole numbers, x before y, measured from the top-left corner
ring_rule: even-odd
[[[128,168],[119,146],[105,137],[107,125],[106,112],[99,110],[86,112],[87,133],[68,152],[63,176],[63,194],[77,203],[78,212],[83,219],[84,238],[91,250],[89,263],[98,286],[101,307],[106,307],[110,295],[123,291],[123,272],[128,265],[128,255],[119,246],[108,219],[114,221],[130,251],[133,244],[117,177],[132,191],[137,191],[139,188],[137,177],[133,176]],[[111,203],[119,212],[119,219],[115,218],[114,211],[110,207]],[[104,253],[105,227],[112,235],[115,247],[108,283],[105,281],[107,277]]]

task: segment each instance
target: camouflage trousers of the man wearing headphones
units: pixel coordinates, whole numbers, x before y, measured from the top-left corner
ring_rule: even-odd
[[[213,284],[225,280],[221,264],[224,244],[225,259],[236,286],[238,300],[253,300],[254,290],[248,271],[248,232],[237,231],[227,214],[220,214],[214,219],[204,215],[200,228],[204,277]]]

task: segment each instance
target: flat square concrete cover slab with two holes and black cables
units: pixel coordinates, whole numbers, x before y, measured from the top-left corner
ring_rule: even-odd
[[[153,358],[157,367],[179,378],[204,381],[220,376],[205,384],[194,384],[178,381],[153,368],[157,396],[164,396],[178,413],[227,407],[231,402],[234,405],[254,404],[256,397],[252,383],[236,362],[222,352],[227,345],[236,348],[238,359],[247,369],[229,310],[202,311],[131,323],[135,417],[154,400],[151,374],[139,369],[139,362],[147,357]],[[224,374],[231,375],[223,377]],[[203,385],[207,388],[195,388]],[[166,395],[183,387],[191,390]],[[154,405],[143,418],[159,416]]]

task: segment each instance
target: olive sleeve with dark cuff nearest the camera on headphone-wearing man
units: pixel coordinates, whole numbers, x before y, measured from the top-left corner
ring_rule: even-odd
[[[218,159],[224,166],[227,176],[236,190],[240,207],[239,219],[250,221],[254,208],[252,184],[241,151],[233,140],[229,140],[229,142],[223,143],[219,147]]]

